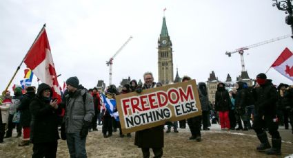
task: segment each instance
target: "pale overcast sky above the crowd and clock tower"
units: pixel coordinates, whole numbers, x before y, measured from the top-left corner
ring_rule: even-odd
[[[208,80],[213,70],[219,80],[227,74],[236,80],[241,72],[239,54],[225,55],[271,38],[291,34],[285,12],[270,0],[242,1],[19,1],[0,2],[0,89],[5,89],[19,63],[32,45],[43,23],[50,42],[59,84],[77,76],[87,88],[98,80],[108,84],[105,64],[125,43],[132,40],[113,60],[112,83],[122,78],[143,79],[145,71],[158,78],[157,40],[161,33],[163,8],[173,44],[174,74],[188,75],[197,82]],[[254,47],[245,52],[245,69],[250,78],[265,72],[283,49],[293,51],[292,38]],[[23,78],[23,63],[12,84]],[[292,81],[270,69],[274,84]],[[37,78],[34,77],[34,85]],[[2,91],[2,90],[1,90]]]

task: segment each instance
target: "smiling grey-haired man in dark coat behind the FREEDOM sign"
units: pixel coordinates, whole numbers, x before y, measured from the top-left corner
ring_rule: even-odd
[[[145,83],[142,89],[151,89],[156,87],[154,82],[154,77],[151,72],[146,72],[143,75]],[[137,91],[140,92],[140,91]],[[144,129],[142,131],[137,131],[135,133],[134,144],[141,148],[143,152],[143,157],[150,157],[150,148],[154,152],[154,157],[163,156],[163,146],[164,146],[164,125],[155,126],[152,128]]]

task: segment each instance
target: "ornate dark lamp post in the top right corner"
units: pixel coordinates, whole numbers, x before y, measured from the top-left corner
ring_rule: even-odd
[[[289,14],[286,16],[285,18],[285,23],[287,23],[287,25],[291,25],[291,32],[293,34],[293,7],[292,7],[292,0],[272,0],[272,1],[276,1],[275,3],[273,3],[273,6],[276,6],[276,8],[278,8],[278,10],[283,10],[285,11],[285,14]],[[293,36],[292,36],[293,38]]]

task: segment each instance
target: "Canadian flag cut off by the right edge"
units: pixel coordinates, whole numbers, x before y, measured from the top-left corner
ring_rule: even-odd
[[[281,55],[276,59],[276,61],[272,64],[272,66],[276,71],[280,74],[293,80],[293,54],[286,47]]]

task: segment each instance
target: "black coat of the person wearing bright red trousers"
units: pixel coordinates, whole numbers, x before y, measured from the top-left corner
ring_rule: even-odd
[[[216,91],[216,98],[214,103],[214,109],[216,111],[229,111],[232,106],[230,96],[227,90]]]

